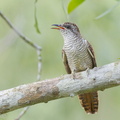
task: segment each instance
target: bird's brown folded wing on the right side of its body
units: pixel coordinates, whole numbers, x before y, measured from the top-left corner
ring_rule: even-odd
[[[92,62],[93,62],[93,68],[94,67],[97,67],[97,63],[96,63],[96,60],[95,60],[95,54],[94,54],[94,51],[93,51],[93,48],[91,46],[91,44],[87,41],[87,45],[88,45],[88,52],[92,58]]]

